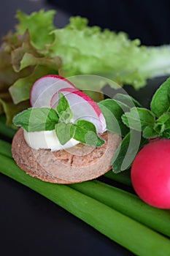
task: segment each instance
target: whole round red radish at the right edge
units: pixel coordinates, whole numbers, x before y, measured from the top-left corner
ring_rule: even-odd
[[[134,190],[145,203],[170,209],[170,140],[148,143],[131,167]]]

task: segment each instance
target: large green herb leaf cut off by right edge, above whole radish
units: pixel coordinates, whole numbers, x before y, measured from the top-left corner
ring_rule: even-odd
[[[159,117],[170,108],[170,78],[168,78],[155,92],[150,103],[150,109]]]

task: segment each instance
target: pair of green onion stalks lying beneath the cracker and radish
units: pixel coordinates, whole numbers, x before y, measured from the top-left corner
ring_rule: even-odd
[[[135,195],[100,181],[63,185],[33,178],[12,159],[10,143],[0,140],[0,148],[0,172],[4,175],[39,192],[136,255],[169,255],[169,238],[153,230],[170,236],[168,211],[147,206]],[[150,223],[152,229],[147,227]]]

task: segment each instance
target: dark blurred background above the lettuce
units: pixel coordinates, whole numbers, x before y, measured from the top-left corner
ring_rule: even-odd
[[[55,23],[63,26],[70,15],[82,15],[89,24],[125,31],[131,39],[139,38],[143,45],[170,43],[170,1],[154,0],[25,0],[1,2],[0,35],[15,25],[15,12],[39,8],[58,10]]]

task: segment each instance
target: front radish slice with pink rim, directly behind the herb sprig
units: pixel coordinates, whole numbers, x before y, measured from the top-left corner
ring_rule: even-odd
[[[93,101],[87,94],[73,88],[64,88],[59,90],[69,102],[69,107],[73,113],[73,121],[84,119],[92,122],[96,126],[98,133],[103,133],[106,130],[106,121],[104,115],[96,102]],[[50,108],[56,108],[58,105],[58,92],[55,93],[50,102]]]

